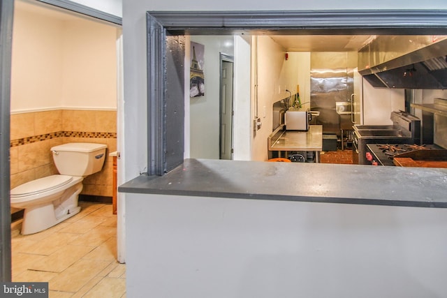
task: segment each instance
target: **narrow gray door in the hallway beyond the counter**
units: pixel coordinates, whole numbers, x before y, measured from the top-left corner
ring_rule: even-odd
[[[233,159],[233,57],[220,54],[219,158]]]

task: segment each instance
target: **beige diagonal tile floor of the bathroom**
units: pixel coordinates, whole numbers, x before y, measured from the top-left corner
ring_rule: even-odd
[[[112,205],[80,202],[79,214],[23,236],[11,225],[13,281],[48,282],[50,298],[126,297],[126,265],[117,262]]]

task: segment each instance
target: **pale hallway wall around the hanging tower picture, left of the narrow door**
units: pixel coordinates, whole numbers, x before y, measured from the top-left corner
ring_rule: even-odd
[[[191,41],[205,46],[205,95],[189,100],[190,156],[219,159],[219,53],[234,55],[233,36],[191,36]],[[191,56],[186,61],[191,62]]]

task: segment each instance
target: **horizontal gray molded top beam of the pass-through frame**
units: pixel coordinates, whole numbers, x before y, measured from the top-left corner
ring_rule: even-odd
[[[173,34],[446,33],[447,10],[151,11]]]

